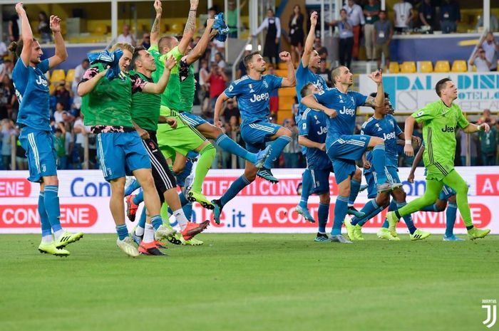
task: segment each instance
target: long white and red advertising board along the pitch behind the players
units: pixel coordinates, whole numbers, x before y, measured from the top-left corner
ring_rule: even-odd
[[[456,170],[470,187],[469,203],[476,226],[489,227],[499,234],[499,167],[458,167]],[[296,189],[301,182],[302,169],[274,169],[279,178],[278,184],[257,180],[248,185],[240,195],[223,209],[221,222],[215,224],[212,211],[199,204],[193,207],[193,221],[209,219],[212,233],[314,233],[317,224],[304,221],[294,212],[299,201]],[[408,168],[401,168],[399,177],[408,177]],[[210,198],[221,196],[242,174],[242,170],[210,170],[203,184],[203,190]],[[0,233],[39,233],[40,221],[37,211],[39,185],[27,182],[27,172],[0,172]],[[109,211],[110,189],[103,180],[101,171],[61,171],[58,172],[61,200],[61,224],[70,231],[85,233],[114,233],[113,218]],[[416,170],[416,181],[403,182],[407,200],[421,196],[426,185],[423,168]],[[363,179],[364,180],[364,179]],[[331,174],[331,206],[328,229],[334,219],[334,199],[337,192],[334,174]],[[368,201],[366,192],[361,192],[356,200],[356,208],[361,209]],[[142,209],[142,205],[138,213]],[[311,196],[309,209],[317,220],[319,197]],[[386,211],[371,219],[364,226],[365,233],[375,233],[383,224]],[[445,212],[428,213],[418,211],[413,214],[417,227],[443,233]],[[174,226],[176,224],[173,224]],[[128,222],[131,228],[134,224]],[[398,225],[401,233],[407,233],[403,221]],[[465,233],[465,227],[458,213],[456,233]]]

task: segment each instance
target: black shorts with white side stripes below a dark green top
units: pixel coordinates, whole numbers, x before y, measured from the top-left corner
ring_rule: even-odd
[[[153,168],[153,178],[156,189],[160,196],[161,202],[165,199],[163,193],[169,189],[173,189],[177,186],[175,182],[175,175],[168,167],[163,153],[158,147],[158,140],[156,140],[156,132],[149,131],[150,138],[148,140],[143,140],[145,150],[148,152],[150,163]]]

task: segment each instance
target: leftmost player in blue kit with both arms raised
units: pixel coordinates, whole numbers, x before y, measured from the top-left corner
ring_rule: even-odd
[[[28,157],[30,182],[40,183],[38,214],[40,214],[41,243],[38,251],[55,256],[68,256],[63,249],[69,243],[80,240],[83,233],[70,233],[63,230],[61,208],[58,198],[58,178],[56,149],[50,126],[48,107],[48,83],[45,73],[66,61],[68,53],[61,35],[61,19],[50,17],[50,28],[56,43],[56,53],[41,61],[43,55],[40,44],[33,38],[23,3],[16,4],[16,12],[21,20],[22,38],[13,42],[9,50],[16,54],[18,61],[12,72],[12,80],[19,100],[17,123],[21,128],[19,142]],[[52,236],[53,231],[53,236]]]

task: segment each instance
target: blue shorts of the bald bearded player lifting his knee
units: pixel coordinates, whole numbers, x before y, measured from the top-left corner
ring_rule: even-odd
[[[367,135],[341,135],[336,137],[331,145],[326,146],[327,156],[333,162],[336,184],[355,173],[355,161],[362,158],[369,140],[371,137]]]

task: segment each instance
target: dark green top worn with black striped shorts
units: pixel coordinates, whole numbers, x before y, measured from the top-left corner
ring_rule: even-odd
[[[155,83],[153,78],[148,78],[142,73],[130,71],[130,77],[138,75],[142,80]],[[139,127],[148,131],[158,130],[160,118],[161,95],[137,92],[132,95],[132,120]]]

